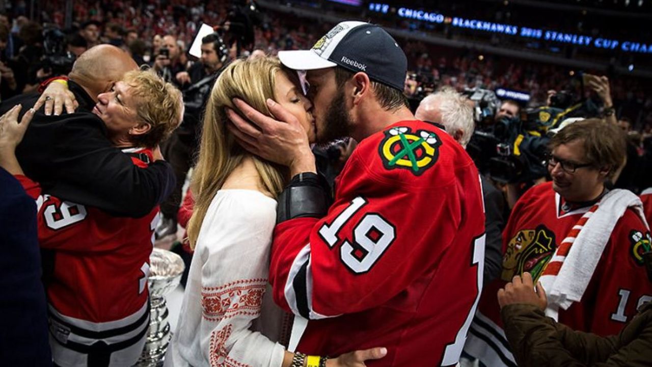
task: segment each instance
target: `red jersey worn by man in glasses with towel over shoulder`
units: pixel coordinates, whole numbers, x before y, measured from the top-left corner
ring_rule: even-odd
[[[536,281],[557,246],[590,208],[567,208],[552,182],[532,187],[516,202],[503,231],[503,271],[482,294],[464,349],[467,353],[486,366],[516,366],[502,330],[497,291],[516,274],[529,272]],[[650,233],[641,217],[625,210],[581,302],[568,310],[560,308],[558,321],[601,336],[617,334],[639,306],[652,300],[652,283],[647,281],[641,257],[649,243]]]

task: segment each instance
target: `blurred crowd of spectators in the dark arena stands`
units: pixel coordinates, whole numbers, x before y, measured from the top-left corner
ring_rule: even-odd
[[[202,22],[215,25],[222,33],[233,33],[237,27],[233,22],[237,18],[235,9],[243,7],[244,3],[198,0],[87,3],[77,0],[73,1],[72,24],[68,29],[65,28],[65,1],[50,1],[35,9],[41,14],[38,23],[25,18],[27,8],[14,7],[7,13],[12,15],[11,19],[0,17],[0,24],[5,25],[0,28],[7,30],[5,33],[5,29],[0,29],[0,41],[3,41],[0,48],[5,47],[0,65],[5,80],[1,95],[6,99],[22,91],[31,91],[39,78],[50,76],[48,68],[38,63],[42,54],[40,33],[43,27],[48,29],[54,25],[64,29],[68,33],[68,50],[74,54],[98,42],[106,42],[129,50],[137,61],[152,62],[160,37],[164,35],[174,35],[181,49],[188,50]],[[248,19],[253,26],[248,46],[268,54],[309,48],[316,42],[316,35],[332,25],[305,22],[264,9],[256,14],[259,17]],[[417,40],[400,41],[409,58],[409,69],[426,87],[447,85],[458,91],[475,87],[516,89],[529,93],[529,104],[537,106],[546,101],[549,90],[566,89],[569,82],[580,75],[569,67],[492,56],[477,50],[435,47]],[[231,57],[243,52],[246,48],[234,48]],[[23,70],[25,68],[27,70]],[[649,93],[646,95],[647,84],[629,76],[610,75],[610,79],[617,116],[632,121],[633,129],[648,133],[652,129],[652,97]]]

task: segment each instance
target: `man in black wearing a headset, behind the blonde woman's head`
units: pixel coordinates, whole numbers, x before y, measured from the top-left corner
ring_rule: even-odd
[[[182,86],[183,91],[185,114],[181,127],[162,147],[164,156],[175,171],[177,186],[168,200],[161,205],[163,219],[156,229],[156,238],[163,238],[177,232],[177,212],[181,204],[181,190],[197,150],[197,136],[201,129],[201,116],[205,101],[219,71],[227,61],[228,49],[222,39],[213,33],[201,39],[200,62],[192,65],[187,72],[177,73],[177,82]]]

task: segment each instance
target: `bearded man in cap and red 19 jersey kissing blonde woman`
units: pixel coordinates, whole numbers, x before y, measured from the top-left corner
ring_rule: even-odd
[[[329,208],[291,116],[269,104],[281,123],[237,102],[258,130],[230,114],[244,147],[293,176],[278,199],[270,269],[274,299],[297,315],[289,347],[321,355],[387,347],[369,366],[456,364],[482,287],[484,215],[473,162],[411,114],[402,94],[406,56],[381,27],[342,22],[312,50],[279,58],[311,69],[318,140],[359,142]]]

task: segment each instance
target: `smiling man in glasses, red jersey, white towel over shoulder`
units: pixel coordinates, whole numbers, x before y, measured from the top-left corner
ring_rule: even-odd
[[[510,287],[514,276],[529,272],[549,300],[551,290],[571,289],[548,303],[546,315],[600,336],[617,334],[652,300],[643,256],[652,249],[642,204],[607,185],[625,161],[622,131],[602,120],[578,121],[561,129],[550,148],[552,182],[529,189],[512,209],[503,232],[501,279],[483,291],[469,330],[465,351],[486,366],[516,366],[496,302],[497,291]],[[561,279],[567,284],[559,285]]]

